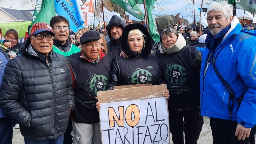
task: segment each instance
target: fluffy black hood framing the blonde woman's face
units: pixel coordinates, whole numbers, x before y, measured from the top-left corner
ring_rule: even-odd
[[[129,45],[127,44],[128,34],[132,29],[139,29],[146,36],[146,37],[144,36],[144,39],[146,41],[145,47],[142,49],[141,53],[132,52],[130,50]],[[148,32],[147,28],[142,24],[140,23],[130,24],[123,29],[123,35],[121,37],[121,48],[122,48],[122,51],[128,56],[131,56],[133,58],[147,57],[151,53],[153,44],[154,44],[154,41],[150,33]]]

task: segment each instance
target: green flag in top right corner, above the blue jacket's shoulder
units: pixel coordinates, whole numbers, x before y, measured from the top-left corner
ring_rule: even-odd
[[[214,1],[223,1],[223,0],[214,0]],[[236,8],[246,10],[248,12],[256,13],[256,1],[255,0],[226,0],[230,2],[229,4],[233,4],[235,2]],[[232,3],[233,2],[233,3]]]

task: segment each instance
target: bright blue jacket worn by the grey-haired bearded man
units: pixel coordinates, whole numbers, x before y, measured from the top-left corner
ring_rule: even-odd
[[[227,35],[227,34],[226,34]],[[237,121],[244,127],[256,124],[256,32],[242,30],[234,17],[228,36],[219,46],[201,49],[202,66],[200,76],[201,115]],[[209,55],[213,60],[208,63]],[[229,99],[229,92],[213,70],[212,61],[223,78],[233,88],[236,98],[244,95],[239,107],[236,100]],[[234,105],[234,107],[232,106]],[[233,107],[231,116],[228,106]]]

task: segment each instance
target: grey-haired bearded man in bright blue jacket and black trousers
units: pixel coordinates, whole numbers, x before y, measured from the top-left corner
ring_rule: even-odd
[[[226,2],[208,8],[201,50],[200,113],[210,117],[214,144],[248,144],[256,124],[256,33],[232,14]]]

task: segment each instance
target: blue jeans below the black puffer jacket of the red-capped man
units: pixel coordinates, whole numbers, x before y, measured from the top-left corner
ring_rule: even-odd
[[[24,138],[24,142],[25,144],[62,144],[63,138],[64,138],[64,134],[52,140],[33,141],[33,140],[28,140],[27,138]]]

